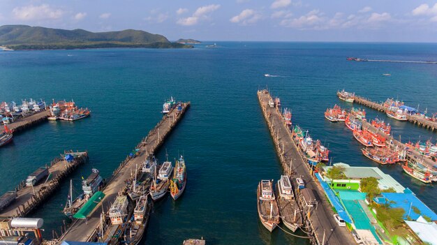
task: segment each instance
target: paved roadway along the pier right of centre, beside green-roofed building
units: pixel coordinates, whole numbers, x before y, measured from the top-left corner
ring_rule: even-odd
[[[345,227],[339,227],[332,217],[334,212],[332,207],[327,200],[323,189],[320,185],[314,181],[313,177],[309,172],[307,164],[302,160],[295,143],[292,141],[290,130],[283,124],[281,119],[281,114],[276,110],[276,108],[271,108],[268,105],[268,101],[271,99],[268,93],[258,93],[258,98],[260,99],[260,105],[264,107],[268,120],[272,124],[271,131],[274,132],[274,142],[279,142],[277,146],[280,150],[283,150],[284,160],[283,163],[287,165],[288,168],[290,160],[292,160],[292,170],[295,172],[292,177],[302,177],[306,183],[306,188],[313,191],[318,205],[310,210],[310,220],[313,228],[316,232],[320,244],[323,242],[323,237],[325,233],[325,244],[333,245],[346,245],[355,244],[352,235]]]

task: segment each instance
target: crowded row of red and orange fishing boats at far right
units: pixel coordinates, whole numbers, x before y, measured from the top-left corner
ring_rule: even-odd
[[[332,109],[325,112],[325,118],[333,122],[341,121],[332,120],[332,118],[338,118],[339,112],[343,111],[338,105],[334,105]],[[355,140],[364,146],[361,149],[364,156],[382,165],[401,163],[404,172],[424,183],[437,181],[436,165],[424,164],[423,158],[407,158],[408,152],[412,151],[419,152],[424,158],[436,158],[437,144],[428,140],[427,142],[419,141],[415,144],[408,142],[395,146],[392,141],[387,141],[387,135],[390,135],[391,131],[390,124],[386,124],[380,119],[372,120],[371,125],[377,129],[373,133],[369,128],[363,128],[363,121],[366,121],[364,110],[355,108],[352,108],[344,120],[346,127],[353,131]]]

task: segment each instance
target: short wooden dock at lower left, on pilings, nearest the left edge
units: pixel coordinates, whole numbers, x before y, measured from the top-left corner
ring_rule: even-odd
[[[36,186],[26,186],[25,181],[22,181],[15,188],[17,198],[9,206],[0,211],[0,217],[23,217],[33,211],[45,199],[50,197],[50,194],[59,187],[62,179],[65,179],[78,165],[88,161],[88,153],[85,152],[66,152],[72,154],[73,161],[68,162],[61,158],[54,158],[49,168],[49,178],[40,181]],[[31,174],[31,172],[29,172]]]

